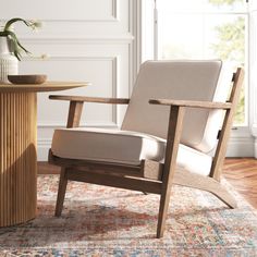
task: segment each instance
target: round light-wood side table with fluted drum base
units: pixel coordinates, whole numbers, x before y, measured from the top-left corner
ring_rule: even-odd
[[[0,227],[24,223],[36,217],[37,93],[87,85],[0,84]]]

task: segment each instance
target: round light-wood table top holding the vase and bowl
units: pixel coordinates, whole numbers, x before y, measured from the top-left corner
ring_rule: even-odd
[[[59,91],[88,86],[88,82],[45,82],[44,84],[0,84],[0,93]]]

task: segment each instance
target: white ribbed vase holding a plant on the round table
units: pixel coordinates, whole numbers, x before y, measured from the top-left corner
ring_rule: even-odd
[[[17,59],[10,50],[9,39],[0,36],[0,83],[8,83],[8,75],[16,75]]]

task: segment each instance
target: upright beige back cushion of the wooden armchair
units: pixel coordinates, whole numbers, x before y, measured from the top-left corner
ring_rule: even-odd
[[[122,130],[166,138],[170,108],[149,105],[149,99],[225,101],[232,73],[223,72],[221,75],[221,71],[223,69],[220,60],[143,63]],[[188,109],[181,143],[208,152],[216,146],[220,125],[221,111]]]

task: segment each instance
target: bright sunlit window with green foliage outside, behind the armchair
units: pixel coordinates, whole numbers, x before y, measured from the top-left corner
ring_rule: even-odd
[[[244,66],[246,79],[234,125],[248,124],[246,0],[156,0],[156,54],[163,59],[222,59]]]

